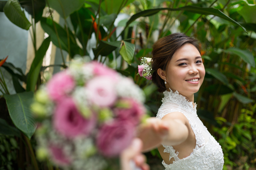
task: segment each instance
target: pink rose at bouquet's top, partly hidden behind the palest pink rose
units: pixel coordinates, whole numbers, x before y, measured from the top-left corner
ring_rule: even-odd
[[[118,78],[118,73],[116,71],[114,71],[111,68],[105,67],[105,66],[103,66],[103,64],[98,63],[96,61],[92,61],[90,63],[87,63],[87,64],[85,64],[85,67],[86,66],[91,66],[92,69],[93,69],[93,73],[95,75],[107,75],[107,76],[110,76],[114,79]]]

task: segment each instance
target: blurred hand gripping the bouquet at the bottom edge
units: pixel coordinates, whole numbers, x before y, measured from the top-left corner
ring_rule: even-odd
[[[149,170],[145,155],[141,153],[142,141],[134,138],[132,144],[120,155],[121,170]]]

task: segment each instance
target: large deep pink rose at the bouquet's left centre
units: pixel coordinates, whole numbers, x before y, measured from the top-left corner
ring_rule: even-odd
[[[72,98],[65,98],[56,106],[53,115],[53,126],[62,135],[74,137],[88,135],[96,125],[96,116],[85,119],[79,113]]]

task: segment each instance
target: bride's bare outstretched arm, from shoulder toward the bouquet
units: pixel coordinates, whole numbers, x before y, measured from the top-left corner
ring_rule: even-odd
[[[149,118],[141,125],[138,137],[143,142],[143,152],[165,145],[178,145],[188,137],[188,120],[180,112],[166,114],[161,120]]]

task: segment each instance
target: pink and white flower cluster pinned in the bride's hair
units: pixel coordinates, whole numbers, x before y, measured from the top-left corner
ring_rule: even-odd
[[[140,77],[152,80],[152,74],[155,70],[152,69],[151,58],[142,57],[141,64],[138,66]]]

